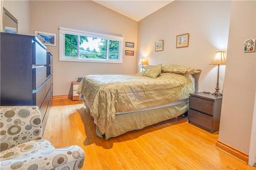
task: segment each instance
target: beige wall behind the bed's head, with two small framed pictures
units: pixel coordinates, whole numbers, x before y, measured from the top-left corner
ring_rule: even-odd
[[[174,1],[139,21],[138,58],[151,65],[180,64],[202,69],[199,91],[214,91],[217,66],[209,65],[216,51],[227,49],[230,18],[228,1]],[[176,36],[189,33],[189,47],[176,48]],[[164,40],[164,51],[155,52],[155,41]],[[137,69],[138,70],[138,69]],[[225,66],[221,66],[220,87]]]

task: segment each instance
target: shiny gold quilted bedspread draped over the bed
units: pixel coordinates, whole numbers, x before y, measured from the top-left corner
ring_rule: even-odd
[[[164,73],[156,79],[141,75],[89,75],[80,82],[90,104],[90,114],[101,134],[108,130],[117,112],[135,111],[188,98],[194,92],[187,75]]]

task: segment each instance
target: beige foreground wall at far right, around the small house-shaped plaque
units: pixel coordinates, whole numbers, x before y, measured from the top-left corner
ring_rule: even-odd
[[[243,43],[256,37],[255,1],[233,1],[219,140],[249,152],[255,99],[256,53],[243,53]]]

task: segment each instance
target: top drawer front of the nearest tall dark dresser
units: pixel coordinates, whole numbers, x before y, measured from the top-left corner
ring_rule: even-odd
[[[46,65],[46,49],[39,45],[36,41],[33,42],[32,64]]]

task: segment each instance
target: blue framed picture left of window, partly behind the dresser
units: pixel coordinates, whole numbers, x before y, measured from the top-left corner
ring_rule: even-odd
[[[56,46],[56,34],[46,33],[41,31],[34,31],[34,35],[44,44],[49,46]]]

